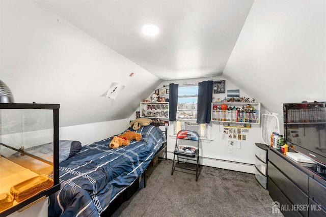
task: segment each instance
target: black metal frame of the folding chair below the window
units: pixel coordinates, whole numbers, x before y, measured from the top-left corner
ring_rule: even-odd
[[[181,131],[178,132],[178,134],[180,132],[184,132],[184,131],[186,131],[186,130],[181,130]],[[199,136],[198,136],[198,140],[189,140],[189,139],[185,138],[185,140],[188,140],[188,141],[197,141],[197,149],[195,150],[195,154],[186,154],[186,153],[178,152],[177,151],[177,149],[178,149],[178,139],[181,139],[181,138],[178,138],[178,136],[177,136],[176,141],[175,141],[175,149],[173,151],[173,161],[172,161],[171,175],[173,175],[173,172],[174,172],[175,168],[181,168],[181,169],[185,169],[185,170],[193,170],[193,171],[196,171],[196,174],[193,174],[193,173],[189,173],[189,174],[196,175],[196,181],[197,181],[198,180],[198,169],[200,167],[200,164],[199,164]],[[179,166],[179,165],[175,164],[175,156],[177,156],[178,163],[179,163],[179,156],[186,157],[186,158],[180,157],[180,159],[196,161],[196,169],[185,167],[185,166]],[[196,158],[196,160],[189,159],[189,158]],[[182,171],[182,170],[177,170],[177,171],[188,173],[188,172]]]

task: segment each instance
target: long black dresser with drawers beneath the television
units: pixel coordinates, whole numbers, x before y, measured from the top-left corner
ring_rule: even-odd
[[[273,148],[268,150],[267,189],[285,216],[326,216],[326,181]]]

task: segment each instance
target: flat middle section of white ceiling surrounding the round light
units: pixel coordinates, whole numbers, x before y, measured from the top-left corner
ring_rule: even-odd
[[[221,75],[253,0],[33,0],[164,80]],[[148,38],[141,26],[155,23]]]

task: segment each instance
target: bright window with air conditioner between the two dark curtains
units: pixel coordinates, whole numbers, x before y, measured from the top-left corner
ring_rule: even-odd
[[[180,130],[195,130],[200,137],[207,138],[206,123],[196,123],[197,120],[198,84],[179,85],[177,121],[174,134]]]

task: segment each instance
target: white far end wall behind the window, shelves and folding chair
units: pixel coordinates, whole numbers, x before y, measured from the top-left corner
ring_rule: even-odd
[[[198,83],[201,81],[219,81],[226,80],[226,92],[225,94],[213,94],[215,99],[221,98],[224,99],[227,96],[228,89],[239,89],[236,85],[230,82],[228,79],[223,76],[218,77],[209,77],[209,78],[198,78],[198,79],[184,79],[184,80],[170,80],[163,81],[160,83],[155,89],[161,88],[164,85],[169,85],[170,83],[176,84],[192,84]],[[166,87],[168,88],[168,87]],[[154,91],[153,91],[154,92]],[[152,94],[152,93],[151,93]],[[151,94],[148,96],[149,99]],[[250,96],[246,92],[240,89],[240,97],[256,98],[256,96]],[[139,110],[139,109],[138,109]],[[261,113],[265,112],[265,109],[261,108]],[[135,118],[135,114],[130,116],[130,120]],[[175,136],[174,134],[174,125],[173,121],[170,121],[170,126],[168,129],[168,158],[173,159],[173,150],[175,145]],[[233,153],[229,153],[228,144],[226,140],[222,140],[222,136],[224,134],[224,126],[223,122],[215,122],[211,121],[209,123],[211,129],[211,140],[201,140],[200,142],[200,156],[202,157],[201,164],[205,166],[224,168],[229,170],[236,170],[248,173],[255,173],[255,143],[262,143],[261,139],[261,128],[260,125],[252,125],[251,129],[248,129],[248,133],[246,134],[247,140],[241,140],[241,147],[233,148]],[[164,127],[160,127],[164,129]],[[163,156],[163,153],[162,153]],[[241,164],[244,163],[244,164]],[[247,165],[249,164],[249,165]]]

